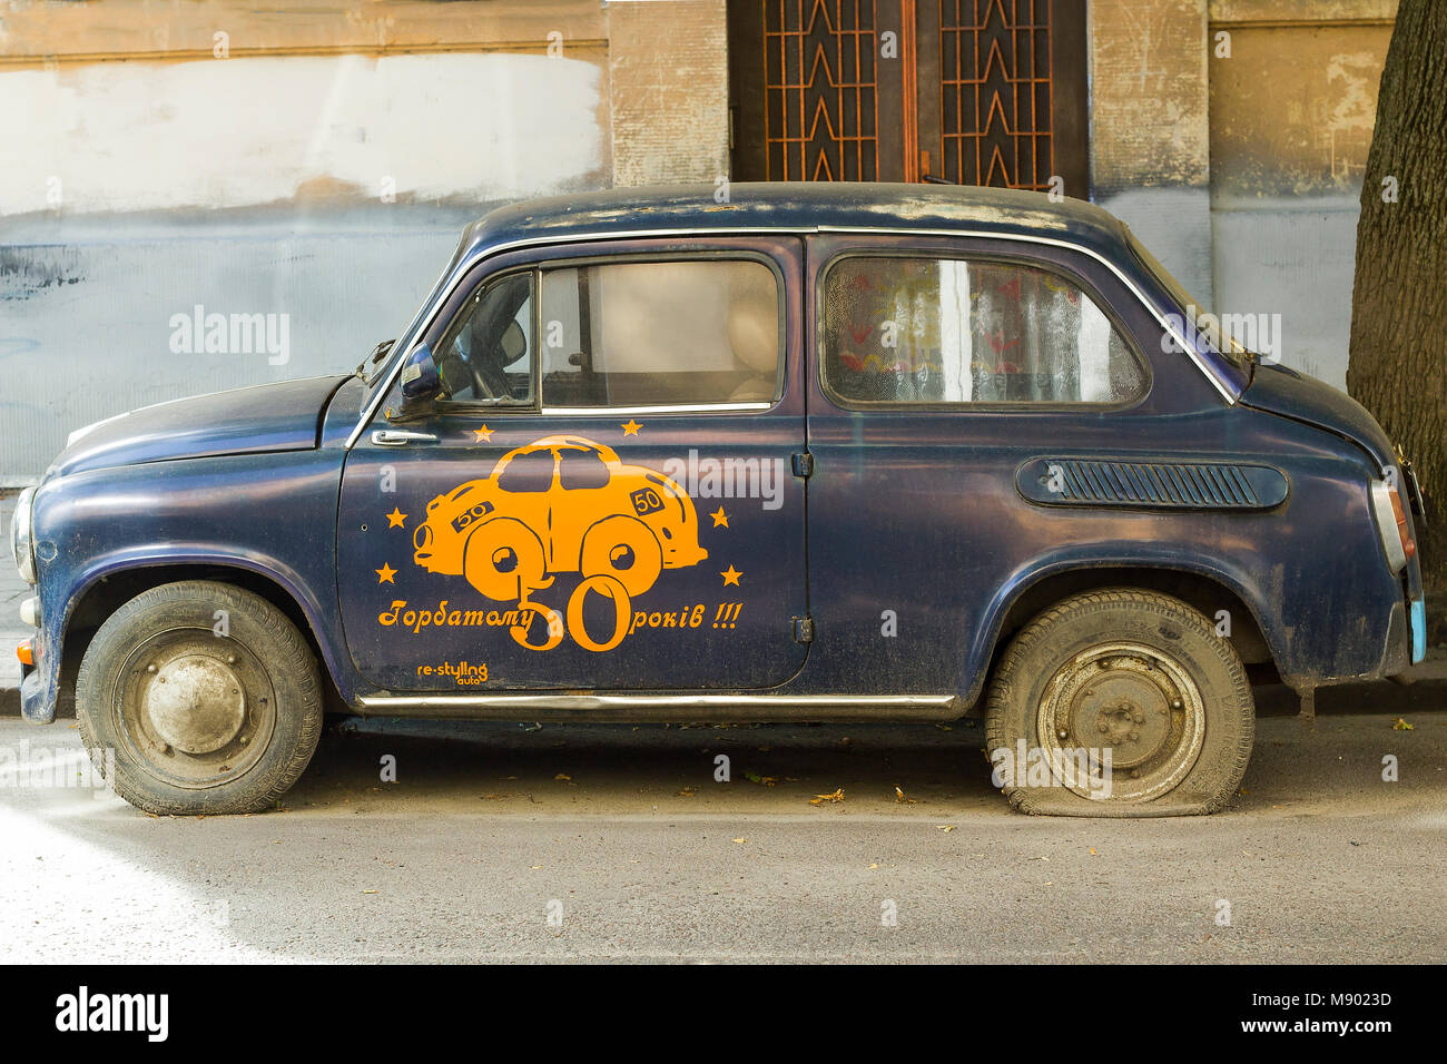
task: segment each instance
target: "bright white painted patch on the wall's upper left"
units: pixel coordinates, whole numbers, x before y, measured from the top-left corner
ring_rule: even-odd
[[[56,187],[64,214],[598,187],[605,84],[596,62],[546,55],[3,71],[0,143],[25,165],[0,166],[0,216],[52,207]]]

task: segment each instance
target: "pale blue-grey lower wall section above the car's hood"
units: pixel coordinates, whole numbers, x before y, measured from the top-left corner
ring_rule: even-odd
[[[124,410],[350,371],[407,324],[463,224],[414,220],[378,239],[334,220],[324,232],[237,221],[198,236],[107,220],[64,243],[0,248],[0,484],[32,481],[72,428]],[[172,316],[197,304],[275,314],[278,327],[285,316],[287,362],[172,350]]]

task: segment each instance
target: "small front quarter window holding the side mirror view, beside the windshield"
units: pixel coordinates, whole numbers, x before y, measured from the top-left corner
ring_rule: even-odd
[[[441,398],[532,404],[532,275],[512,274],[475,291],[433,358]]]

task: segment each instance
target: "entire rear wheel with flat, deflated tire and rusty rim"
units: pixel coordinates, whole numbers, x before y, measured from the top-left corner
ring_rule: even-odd
[[[1169,595],[1114,588],[1068,598],[1014,636],[985,724],[993,782],[1023,812],[1184,816],[1236,793],[1256,712],[1215,625]]]

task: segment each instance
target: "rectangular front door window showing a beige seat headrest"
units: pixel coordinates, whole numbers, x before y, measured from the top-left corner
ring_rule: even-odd
[[[543,272],[543,405],[771,402],[780,295],[755,261],[614,262]]]

